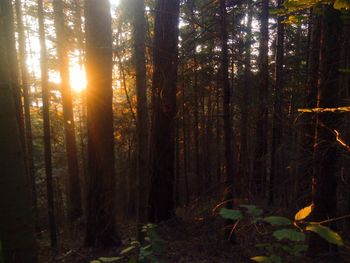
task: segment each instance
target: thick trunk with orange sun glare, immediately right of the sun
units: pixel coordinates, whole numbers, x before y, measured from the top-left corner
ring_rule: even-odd
[[[108,0],[85,1],[88,174],[86,243],[119,245],[112,111],[112,30]]]

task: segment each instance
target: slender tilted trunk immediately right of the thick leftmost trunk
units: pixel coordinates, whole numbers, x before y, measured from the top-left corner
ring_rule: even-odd
[[[35,167],[33,159],[33,136],[32,136],[32,124],[30,118],[30,95],[29,95],[29,83],[28,83],[28,70],[27,70],[27,54],[26,54],[26,43],[22,17],[21,1],[15,1],[16,7],[16,18],[17,18],[17,29],[18,29],[18,49],[19,49],[19,61],[21,67],[21,78],[22,78],[22,90],[23,90],[23,104],[24,104],[24,121],[25,121],[25,137],[26,137],[26,156],[28,164],[28,175],[31,183],[33,210],[35,219],[38,217],[38,206],[37,206],[37,191],[35,183]],[[39,231],[39,225],[35,220],[36,230]]]

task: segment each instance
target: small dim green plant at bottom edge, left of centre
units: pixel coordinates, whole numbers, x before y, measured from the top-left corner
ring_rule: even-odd
[[[160,238],[156,231],[156,225],[147,224],[141,230],[145,236],[145,242],[141,244],[139,241],[132,241],[128,247],[120,252],[118,257],[101,257],[98,260],[93,260],[90,263],[104,263],[104,262],[119,262],[125,259],[127,255],[128,263],[162,263],[159,255],[163,252],[164,241]],[[136,256],[135,256],[135,251]]]

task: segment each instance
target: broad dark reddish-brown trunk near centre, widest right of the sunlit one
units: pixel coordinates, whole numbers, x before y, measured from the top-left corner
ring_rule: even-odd
[[[160,222],[175,215],[174,128],[179,0],[157,0],[155,12],[149,220]]]

